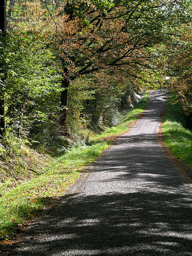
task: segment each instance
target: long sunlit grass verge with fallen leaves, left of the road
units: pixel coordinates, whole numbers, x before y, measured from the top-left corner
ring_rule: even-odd
[[[1,184],[0,197],[0,230],[2,236],[12,236],[19,223],[40,211],[51,198],[64,195],[67,187],[73,184],[84,172],[84,167],[112,143],[115,136],[128,130],[132,123],[144,111],[149,93],[145,93],[139,104],[128,111],[122,122],[100,135],[92,135],[87,145],[71,148],[63,156],[58,157],[44,172],[25,183],[7,191],[7,184]]]

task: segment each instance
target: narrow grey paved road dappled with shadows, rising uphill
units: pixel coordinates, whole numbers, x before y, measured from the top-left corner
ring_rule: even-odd
[[[145,116],[101,158],[81,189],[30,225],[18,255],[192,255],[189,184],[157,141],[166,99],[153,91]]]

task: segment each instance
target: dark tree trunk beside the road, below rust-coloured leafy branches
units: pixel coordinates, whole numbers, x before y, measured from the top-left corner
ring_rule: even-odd
[[[62,61],[64,65],[64,61]],[[69,87],[69,70],[67,67],[63,68],[63,75],[61,81],[61,88],[64,90],[61,91],[61,113],[60,113],[60,124],[67,129],[67,94]]]

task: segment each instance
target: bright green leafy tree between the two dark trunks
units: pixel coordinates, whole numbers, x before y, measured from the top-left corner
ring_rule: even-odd
[[[26,138],[35,122],[43,124],[57,112],[60,77],[54,56],[38,36],[10,33],[5,57],[6,125]]]

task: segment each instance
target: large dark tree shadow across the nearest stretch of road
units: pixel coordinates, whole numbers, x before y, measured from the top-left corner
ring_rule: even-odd
[[[19,255],[187,256],[189,198],[169,192],[70,195],[27,231]],[[50,233],[50,235],[45,235]]]

